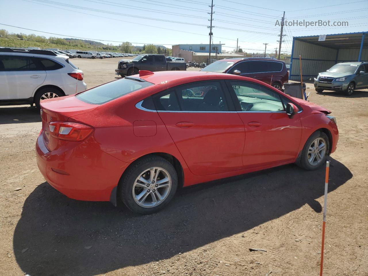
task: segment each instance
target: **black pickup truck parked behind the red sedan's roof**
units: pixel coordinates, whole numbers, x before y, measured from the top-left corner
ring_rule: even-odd
[[[179,61],[166,61],[163,54],[140,54],[134,59],[119,60],[116,75],[121,77],[136,75],[139,70],[148,71],[179,71],[187,70],[187,64]]]

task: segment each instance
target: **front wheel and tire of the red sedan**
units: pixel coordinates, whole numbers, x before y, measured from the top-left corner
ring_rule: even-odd
[[[299,166],[306,170],[317,170],[326,161],[330,141],[322,131],[314,132],[305,142],[300,156]]]

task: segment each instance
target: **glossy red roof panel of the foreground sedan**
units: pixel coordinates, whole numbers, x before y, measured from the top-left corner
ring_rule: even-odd
[[[167,82],[172,82],[173,85],[210,79],[244,79],[244,77],[233,74],[205,71],[159,71],[150,75],[144,75],[141,77],[139,77],[139,75],[133,75],[132,77],[139,78],[153,84],[166,84]]]

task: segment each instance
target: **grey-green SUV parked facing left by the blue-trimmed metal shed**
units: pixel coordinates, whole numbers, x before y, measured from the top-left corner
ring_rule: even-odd
[[[323,90],[344,91],[347,96],[355,89],[368,88],[368,61],[335,64],[314,79],[317,92]]]

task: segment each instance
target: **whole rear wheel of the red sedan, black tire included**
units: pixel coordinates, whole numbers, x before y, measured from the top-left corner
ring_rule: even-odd
[[[158,212],[171,201],[178,177],[170,162],[152,155],[128,168],[119,185],[124,204],[132,212],[147,215]]]

